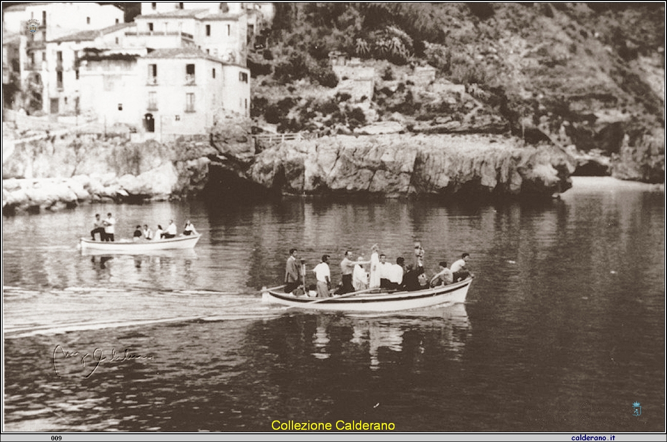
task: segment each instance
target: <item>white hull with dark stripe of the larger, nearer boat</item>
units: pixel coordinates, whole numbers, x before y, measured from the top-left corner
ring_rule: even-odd
[[[440,285],[418,291],[387,291],[368,289],[346,293],[330,298],[313,298],[306,295],[295,296],[283,293],[284,285],[272,289],[262,289],[261,299],[298,309],[348,312],[386,312],[423,309],[436,305],[464,303],[472,278],[458,283]]]

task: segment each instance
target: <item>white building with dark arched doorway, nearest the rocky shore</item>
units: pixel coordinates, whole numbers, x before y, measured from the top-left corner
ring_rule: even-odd
[[[159,141],[208,133],[221,113],[248,115],[249,70],[195,47],[81,61],[81,109]]]

